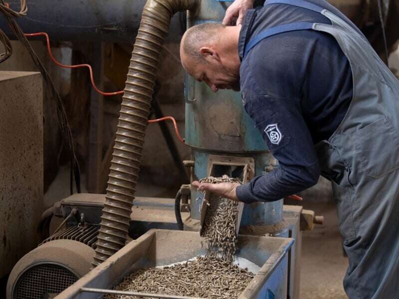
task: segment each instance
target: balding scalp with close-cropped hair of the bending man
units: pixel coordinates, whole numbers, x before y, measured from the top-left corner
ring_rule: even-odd
[[[224,27],[219,23],[203,23],[189,28],[183,35],[181,51],[196,62],[206,63],[200,49],[220,40],[220,32]]]

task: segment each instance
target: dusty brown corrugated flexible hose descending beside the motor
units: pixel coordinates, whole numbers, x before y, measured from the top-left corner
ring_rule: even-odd
[[[134,44],[119,116],[93,266],[125,246],[154,82],[172,16],[196,0],[148,0]]]

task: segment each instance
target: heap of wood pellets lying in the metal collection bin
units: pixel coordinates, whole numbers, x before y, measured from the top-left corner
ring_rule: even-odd
[[[198,257],[171,267],[134,272],[115,290],[210,299],[237,298],[254,275],[246,269],[211,257]],[[141,298],[106,295],[104,299]]]

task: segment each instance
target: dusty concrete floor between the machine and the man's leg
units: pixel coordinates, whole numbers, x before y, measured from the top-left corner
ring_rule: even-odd
[[[325,223],[303,232],[300,298],[348,298],[342,286],[348,258],[343,255],[335,205],[306,202],[302,205],[316,215],[323,215]]]

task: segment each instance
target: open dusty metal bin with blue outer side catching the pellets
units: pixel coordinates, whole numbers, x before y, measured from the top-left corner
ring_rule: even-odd
[[[56,298],[101,298],[103,294],[93,289],[111,290],[135,270],[170,265],[204,255],[201,241],[203,239],[198,232],[150,230],[131,241]],[[261,267],[239,299],[287,298],[287,253],[293,242],[291,238],[249,235],[238,237],[239,249],[236,256]]]

